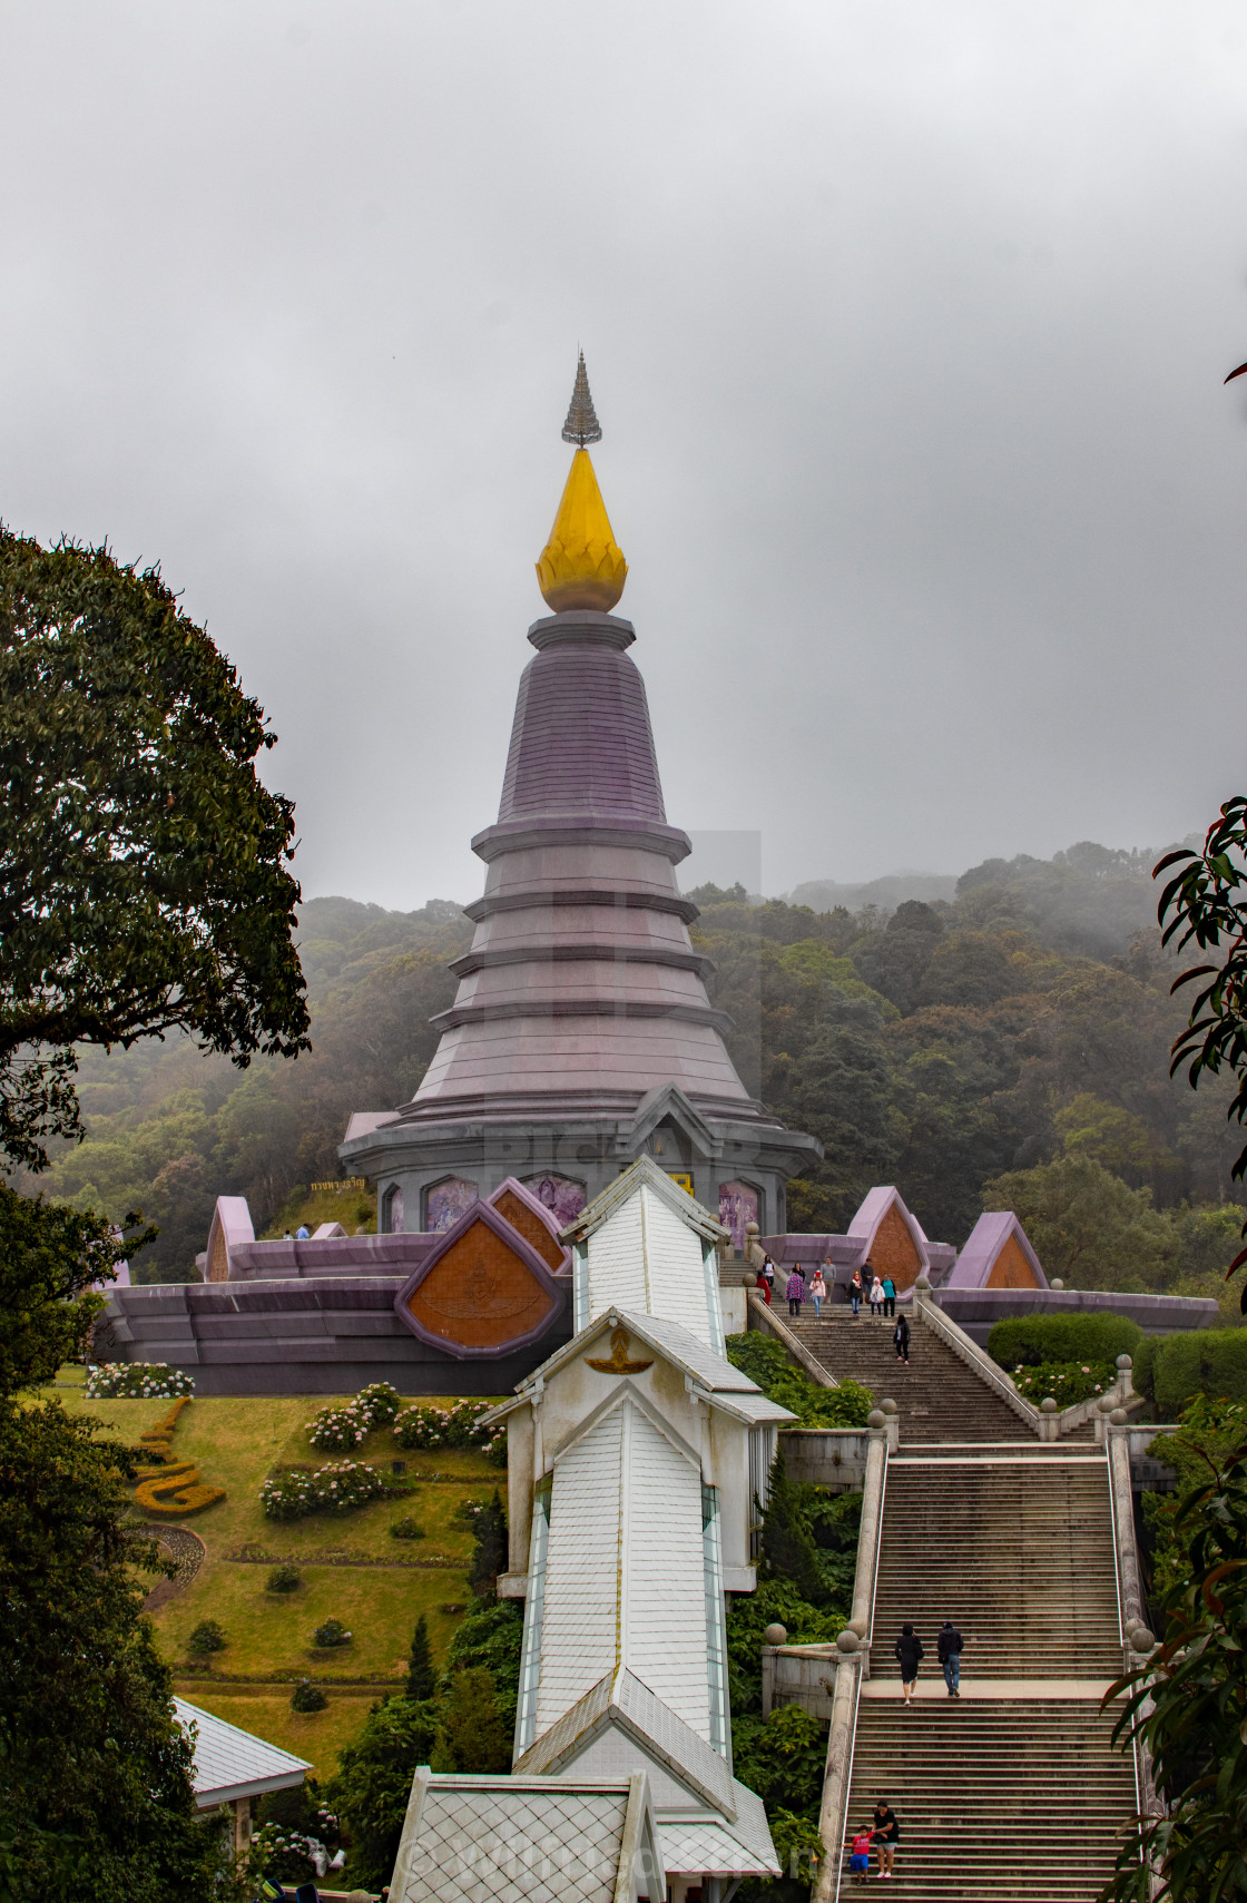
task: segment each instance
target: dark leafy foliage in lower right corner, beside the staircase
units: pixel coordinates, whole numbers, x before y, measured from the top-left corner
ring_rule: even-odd
[[[1239,1410],[1241,1412],[1241,1410]],[[1222,1458],[1199,1444],[1188,1416],[1199,1484],[1173,1509],[1186,1547],[1163,1597],[1165,1637],[1152,1658],[1106,1692],[1125,1694],[1114,1728],[1123,1749],[1152,1753],[1165,1817],[1140,1817],[1104,1897],[1228,1903],[1247,1897],[1247,1441]]]

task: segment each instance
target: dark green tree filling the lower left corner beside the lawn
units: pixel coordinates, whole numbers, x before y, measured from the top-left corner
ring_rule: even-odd
[[[232,1893],[143,1619],[129,1456],[97,1422],[0,1403],[0,1871],[6,1903]]]

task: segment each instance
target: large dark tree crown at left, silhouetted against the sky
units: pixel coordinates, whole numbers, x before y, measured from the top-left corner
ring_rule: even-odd
[[[0,527],[0,1149],[78,1132],[76,1045],[307,1049],[263,710],[156,569]]]

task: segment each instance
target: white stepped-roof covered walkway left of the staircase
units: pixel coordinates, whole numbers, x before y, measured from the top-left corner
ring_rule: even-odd
[[[762,1800],[731,1775],[725,1593],[756,1585],[754,1501],[792,1420],[723,1357],[723,1233],[649,1157],[634,1163],[564,1231],[575,1338],[485,1416],[506,1422],[499,1593],[525,1600],[514,1777],[569,1779],[565,1802],[643,1777],[653,1869],[704,1903],[779,1874]],[[421,1775],[426,1804],[440,1779]],[[394,1903],[442,1895],[430,1867],[409,1817]],[[653,1880],[638,1865],[632,1893]]]

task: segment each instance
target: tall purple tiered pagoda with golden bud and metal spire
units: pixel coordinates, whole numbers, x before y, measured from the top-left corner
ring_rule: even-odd
[[[645,683],[615,615],[628,565],[588,443],[602,438],[577,365],[571,470],[537,561],[552,613],[527,630],[503,797],[472,851],[485,891],[472,948],[409,1104],[350,1119],[341,1157],[377,1184],[379,1229],[444,1231],[518,1178],[571,1222],[642,1155],[699,1203],[786,1227],[784,1186],[821,1157],[741,1083],[693,950]]]

